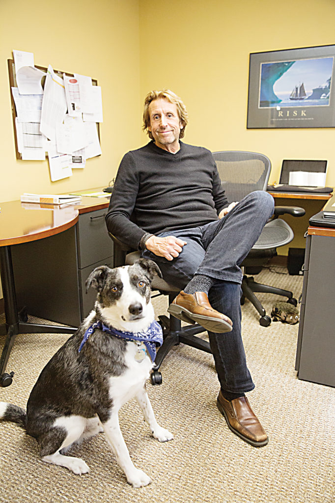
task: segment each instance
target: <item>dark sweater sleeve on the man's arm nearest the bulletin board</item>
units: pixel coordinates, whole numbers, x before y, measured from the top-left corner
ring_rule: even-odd
[[[145,230],[131,221],[139,188],[139,174],[132,152],[121,160],[115,179],[106,224],[109,232],[129,247],[138,249]]]

